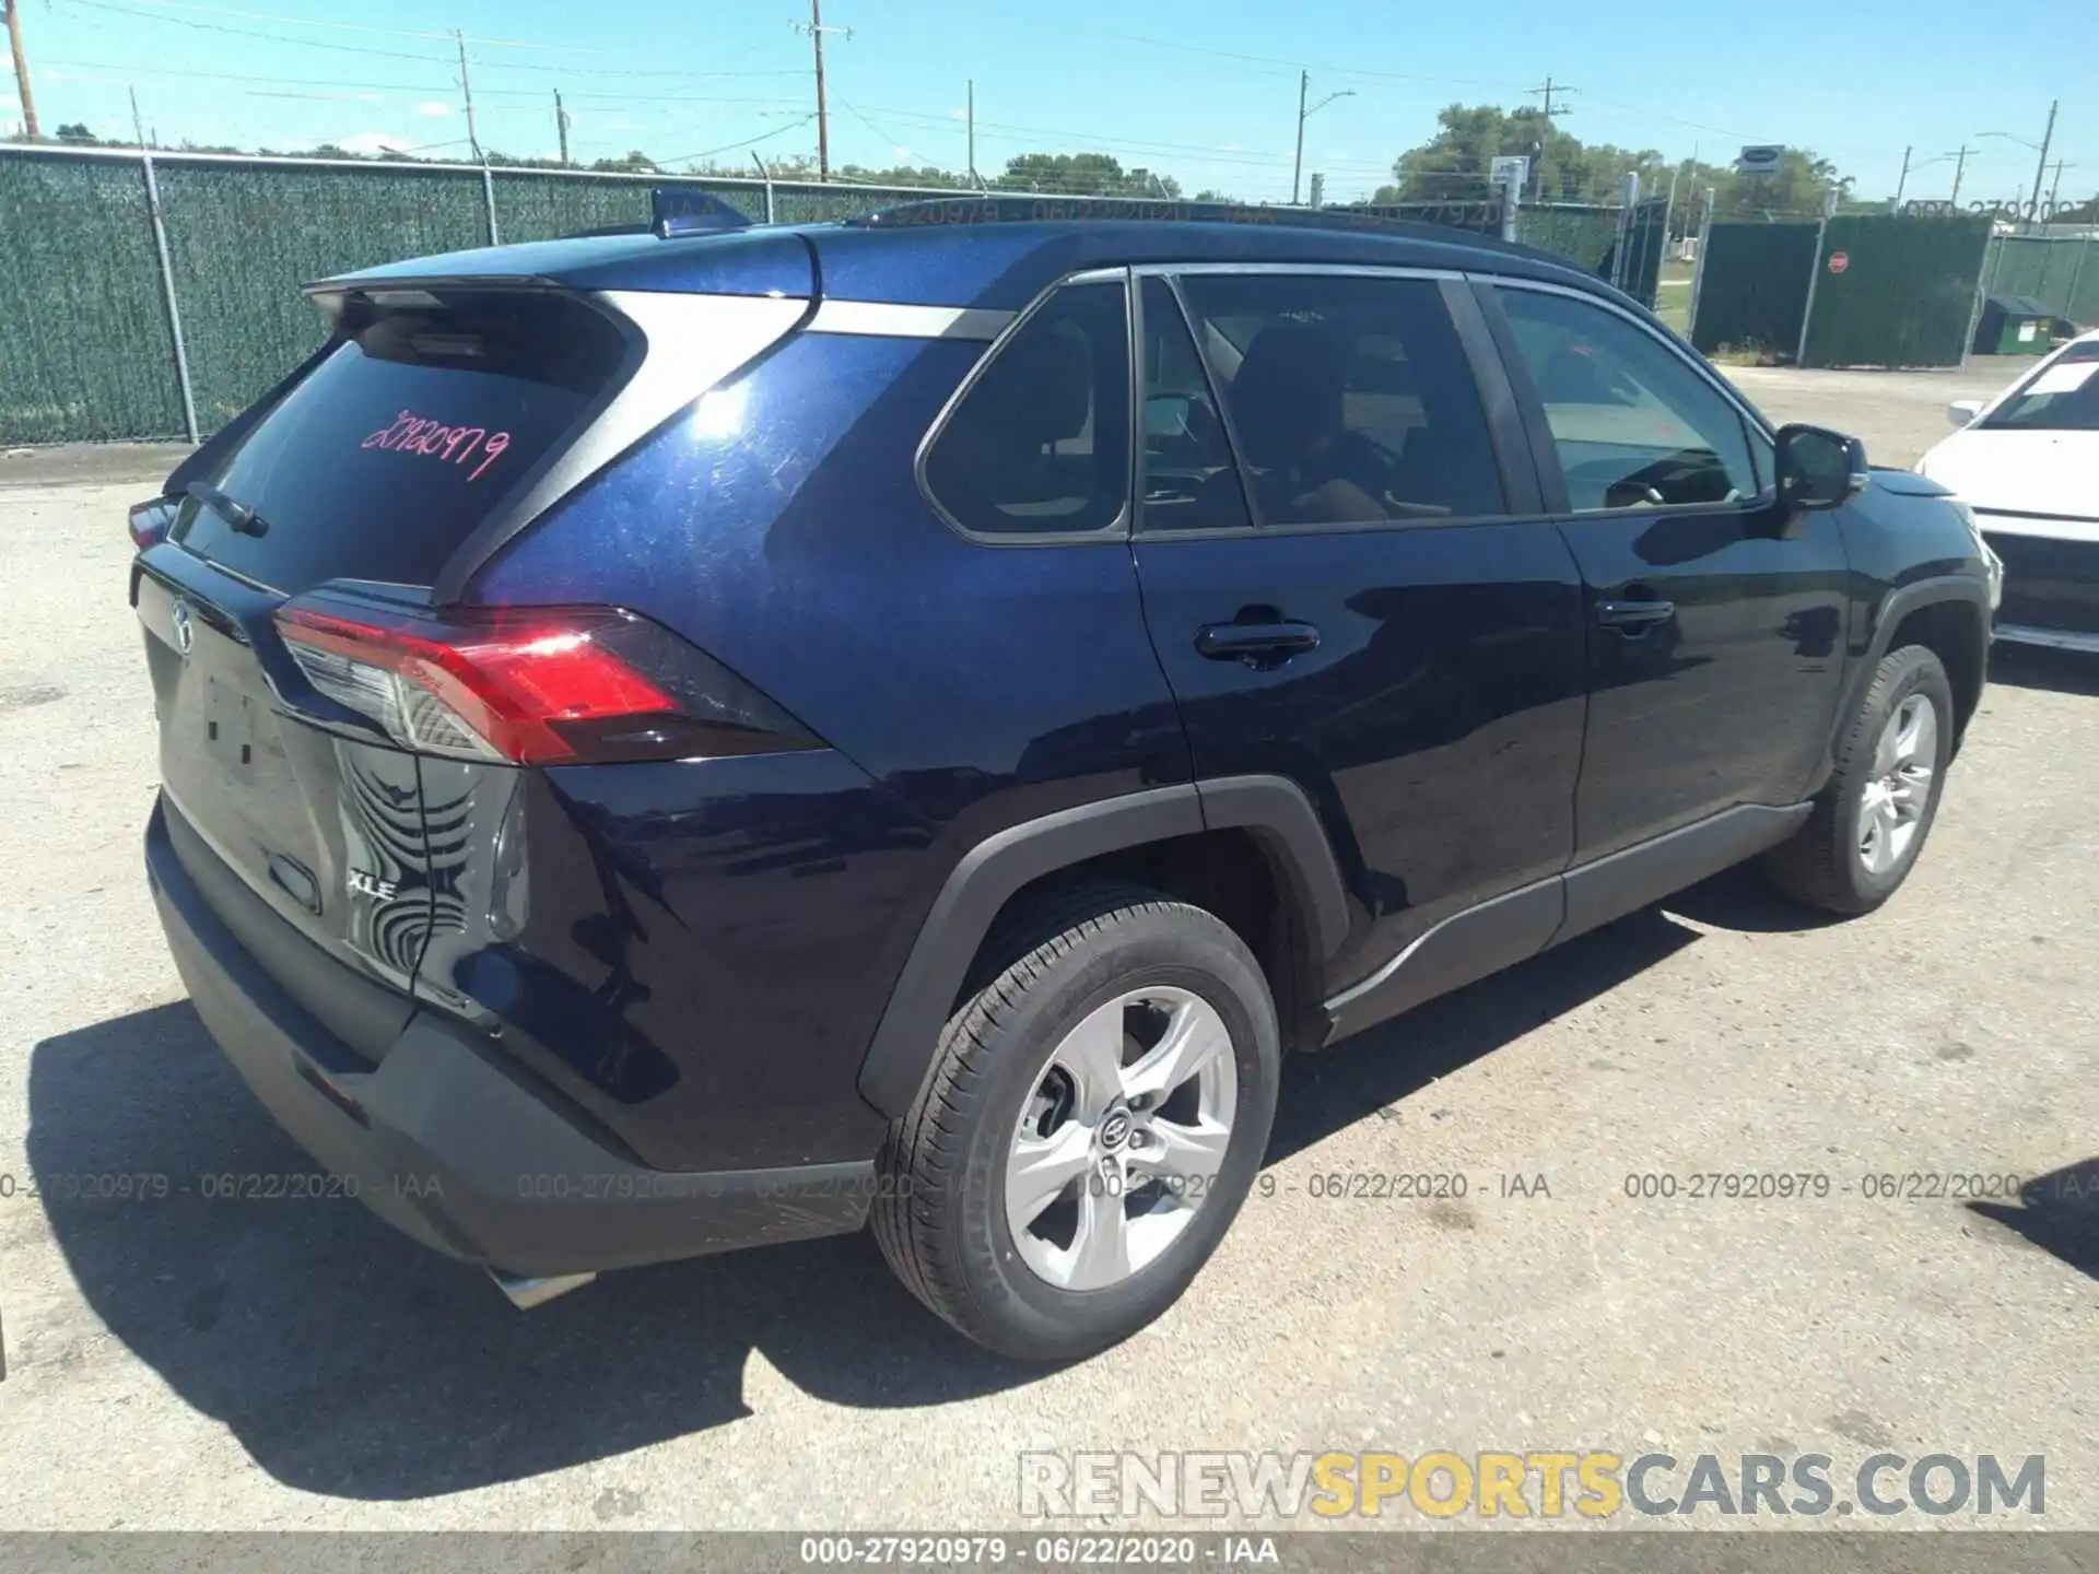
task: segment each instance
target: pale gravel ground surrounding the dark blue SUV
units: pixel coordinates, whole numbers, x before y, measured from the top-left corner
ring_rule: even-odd
[[[516,1314],[355,1203],[181,1194],[309,1165],[145,892],[134,495],[0,491],[0,1528],[1010,1528],[1031,1448],[2044,1454],[2044,1524],[2099,1528],[2091,1205],[1864,1196],[2099,1177],[2099,665],[2000,657],[1877,917],[1721,877],[1295,1064],[1270,1194],[1190,1295],[1043,1373],[867,1238]],[[109,1171],[176,1194],[27,1196]],[[1392,1171],[1467,1196],[1314,1196]],[[1830,1194],[1625,1190],[1694,1171]]]

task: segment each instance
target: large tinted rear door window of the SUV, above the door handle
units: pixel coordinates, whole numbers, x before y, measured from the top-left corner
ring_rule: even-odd
[[[1505,512],[1480,388],[1434,279],[1180,283],[1261,525]]]

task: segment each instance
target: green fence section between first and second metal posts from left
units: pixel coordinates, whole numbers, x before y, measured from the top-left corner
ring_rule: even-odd
[[[160,164],[197,426],[214,432],[325,334],[300,285],[487,243],[481,170]]]

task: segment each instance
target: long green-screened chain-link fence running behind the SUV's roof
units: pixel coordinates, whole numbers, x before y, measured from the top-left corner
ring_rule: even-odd
[[[300,285],[405,256],[644,225],[651,191],[707,191],[760,222],[856,218],[921,187],[0,147],[0,445],[197,439],[323,334]],[[1035,197],[1043,193],[997,193]],[[1047,197],[1064,201],[1070,197]],[[1199,204],[1194,204],[1199,206]],[[1618,208],[1402,204],[1614,277]],[[1635,269],[1637,269],[1635,260]],[[1623,269],[1618,269],[1623,271]],[[1652,277],[1627,288],[1652,300]]]

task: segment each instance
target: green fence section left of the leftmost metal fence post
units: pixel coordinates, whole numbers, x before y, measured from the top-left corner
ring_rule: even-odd
[[[139,164],[0,159],[0,445],[181,437]]]

